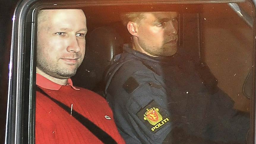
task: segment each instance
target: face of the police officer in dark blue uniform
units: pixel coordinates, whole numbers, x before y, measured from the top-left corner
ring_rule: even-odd
[[[145,13],[138,22],[137,45],[150,56],[174,55],[178,48],[177,16],[177,12]]]

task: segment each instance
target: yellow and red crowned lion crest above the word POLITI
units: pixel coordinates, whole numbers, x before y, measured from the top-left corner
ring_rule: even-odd
[[[153,126],[156,125],[163,120],[162,115],[158,111],[159,109],[154,107],[147,109],[146,113],[144,114],[144,120],[147,120],[149,124]]]

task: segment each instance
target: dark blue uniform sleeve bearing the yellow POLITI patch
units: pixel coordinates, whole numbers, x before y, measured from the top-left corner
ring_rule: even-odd
[[[138,67],[133,72],[123,68],[116,72],[107,101],[126,143],[162,143],[171,131],[166,91],[158,75]]]

